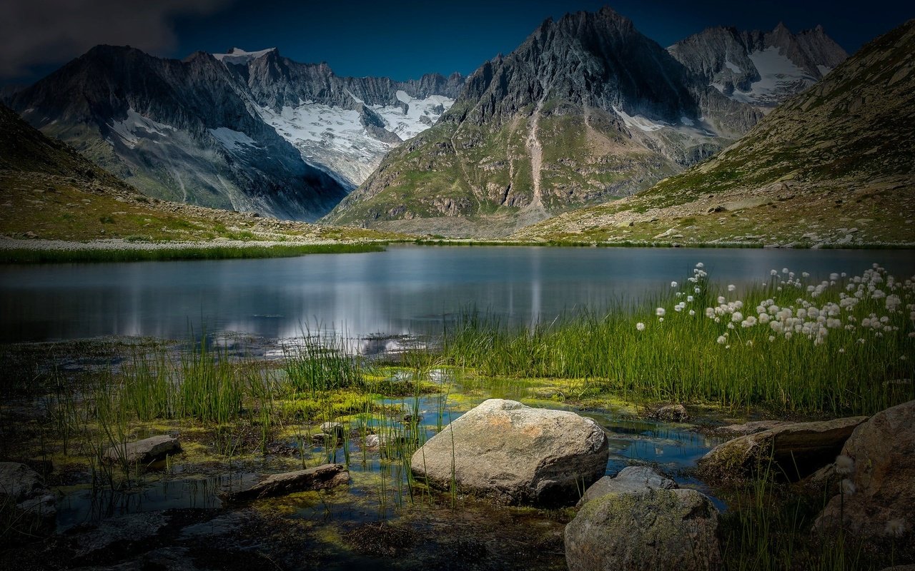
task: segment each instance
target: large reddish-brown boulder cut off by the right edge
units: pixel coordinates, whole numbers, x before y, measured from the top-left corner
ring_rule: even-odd
[[[855,428],[842,454],[854,460],[855,492],[834,496],[813,528],[846,531],[865,539],[906,535],[915,519],[915,400],[888,408]],[[896,523],[892,528],[890,523]]]

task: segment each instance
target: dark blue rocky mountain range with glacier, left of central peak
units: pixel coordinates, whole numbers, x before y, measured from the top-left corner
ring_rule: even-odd
[[[146,195],[313,220],[461,82],[338,78],[275,49],[178,61],[99,46],[9,103]]]

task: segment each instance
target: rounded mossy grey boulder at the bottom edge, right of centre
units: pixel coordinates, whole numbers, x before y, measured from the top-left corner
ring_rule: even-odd
[[[608,493],[565,526],[569,571],[698,571],[721,565],[718,513],[695,490]]]

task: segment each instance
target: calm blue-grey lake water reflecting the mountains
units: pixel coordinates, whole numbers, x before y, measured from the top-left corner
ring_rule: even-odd
[[[763,281],[788,267],[825,278],[872,262],[915,274],[910,250],[410,247],[291,259],[0,268],[0,342],[211,333],[292,337],[436,333],[468,308],[511,323],[638,300],[697,261],[713,280]]]

